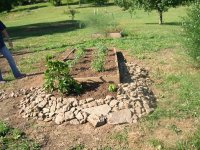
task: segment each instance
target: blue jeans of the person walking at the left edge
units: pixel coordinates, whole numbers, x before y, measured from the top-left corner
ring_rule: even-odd
[[[10,53],[10,51],[7,49],[6,46],[0,48],[0,53],[7,59],[9,65],[10,65],[10,68],[13,72],[13,75],[15,76],[15,78],[18,78],[21,76],[21,73],[20,71],[18,70],[16,64],[15,64],[15,61]],[[0,81],[3,81],[3,77],[2,77],[2,74],[1,74],[1,70],[0,70]]]

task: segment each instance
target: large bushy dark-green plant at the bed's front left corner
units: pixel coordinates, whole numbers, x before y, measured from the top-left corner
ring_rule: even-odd
[[[53,92],[58,90],[63,94],[80,94],[82,86],[69,74],[70,67],[67,62],[47,59],[44,88]]]

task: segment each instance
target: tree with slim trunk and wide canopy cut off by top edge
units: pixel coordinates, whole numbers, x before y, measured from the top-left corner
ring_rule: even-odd
[[[156,10],[159,14],[159,24],[162,24],[163,12],[168,11],[170,7],[177,7],[188,1],[190,0],[115,0],[115,3],[125,10],[134,10],[137,8],[143,8],[148,12]]]

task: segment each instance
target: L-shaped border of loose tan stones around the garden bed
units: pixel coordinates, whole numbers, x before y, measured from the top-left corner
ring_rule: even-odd
[[[32,88],[20,102],[20,114],[23,118],[54,121],[56,124],[90,122],[94,127],[105,123],[136,123],[154,110],[155,97],[148,87],[148,72],[133,63],[127,63],[126,67],[127,83],[118,85],[116,97],[108,95],[102,99],[77,100],[46,94],[43,88]]]

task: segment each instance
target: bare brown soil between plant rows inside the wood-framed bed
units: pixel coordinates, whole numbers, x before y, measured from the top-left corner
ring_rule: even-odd
[[[120,83],[118,59],[116,55],[116,49],[109,49],[105,58],[105,70],[103,72],[96,72],[91,69],[91,62],[93,60],[93,52],[95,49],[85,49],[85,55],[80,59],[78,63],[73,66],[70,74],[80,82],[109,82]],[[73,60],[75,57],[75,50],[68,53],[64,53],[66,56],[64,61]]]

